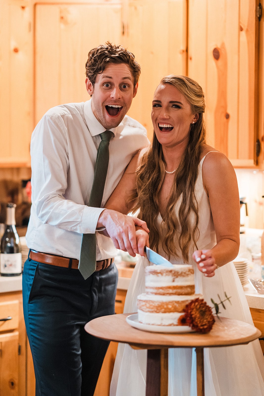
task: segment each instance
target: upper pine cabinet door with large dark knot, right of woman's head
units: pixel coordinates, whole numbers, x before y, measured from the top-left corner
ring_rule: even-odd
[[[188,9],[188,76],[205,92],[208,143],[234,166],[258,164],[256,3],[190,0]]]

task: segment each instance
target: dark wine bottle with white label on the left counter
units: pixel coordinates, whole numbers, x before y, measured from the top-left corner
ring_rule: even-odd
[[[0,242],[0,275],[18,276],[22,272],[22,253],[15,228],[15,204],[6,205],[6,227]]]

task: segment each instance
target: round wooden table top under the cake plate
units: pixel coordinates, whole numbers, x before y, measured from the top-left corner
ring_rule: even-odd
[[[201,333],[153,333],[131,327],[125,320],[130,314],[101,316],[85,325],[85,331],[104,340],[127,343],[136,348],[208,347],[248,344],[260,337],[256,327],[240,320],[215,316],[213,329]]]

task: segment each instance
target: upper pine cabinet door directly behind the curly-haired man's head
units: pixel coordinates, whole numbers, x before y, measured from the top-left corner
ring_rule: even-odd
[[[35,124],[53,106],[88,100],[89,50],[106,41],[122,41],[122,5],[87,3],[36,4]]]

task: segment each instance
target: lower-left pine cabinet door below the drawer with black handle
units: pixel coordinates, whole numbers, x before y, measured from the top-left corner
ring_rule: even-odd
[[[0,394],[18,396],[18,332],[0,335]]]

